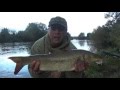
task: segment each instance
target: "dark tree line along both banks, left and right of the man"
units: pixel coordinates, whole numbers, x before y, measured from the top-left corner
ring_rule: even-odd
[[[97,49],[120,48],[120,12],[108,12],[105,14],[107,23],[94,29],[87,36],[81,32],[71,39],[90,39]],[[5,42],[34,42],[47,33],[47,26],[43,23],[29,23],[25,30],[14,31],[3,28],[0,32],[0,43]]]

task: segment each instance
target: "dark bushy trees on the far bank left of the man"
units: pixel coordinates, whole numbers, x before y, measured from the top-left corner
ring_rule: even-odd
[[[34,42],[47,33],[43,23],[29,23],[25,30],[16,32],[3,28],[0,32],[0,43],[6,42]]]

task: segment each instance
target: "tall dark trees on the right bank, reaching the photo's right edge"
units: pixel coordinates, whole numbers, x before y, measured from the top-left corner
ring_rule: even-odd
[[[98,50],[120,48],[120,12],[108,12],[105,14],[107,23],[95,29],[90,39]]]

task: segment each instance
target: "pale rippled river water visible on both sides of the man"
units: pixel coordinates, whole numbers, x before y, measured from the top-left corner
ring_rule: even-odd
[[[90,51],[90,41],[71,40],[77,49]],[[17,75],[14,75],[15,63],[8,59],[10,56],[28,56],[32,43],[4,43],[0,44],[0,78],[31,78],[28,65],[25,65]]]

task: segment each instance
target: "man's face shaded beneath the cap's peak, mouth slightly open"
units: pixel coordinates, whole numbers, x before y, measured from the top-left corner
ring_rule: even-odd
[[[53,25],[49,28],[49,36],[51,43],[53,45],[59,45],[64,39],[64,36],[66,35],[67,30],[65,30],[64,27],[59,25]]]

